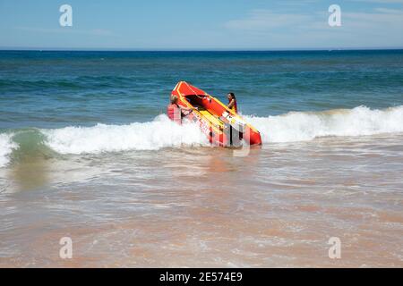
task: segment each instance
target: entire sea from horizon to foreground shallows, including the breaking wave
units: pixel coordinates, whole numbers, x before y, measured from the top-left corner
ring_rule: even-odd
[[[170,122],[179,80],[262,147]],[[402,267],[402,141],[403,50],[1,51],[0,266]]]

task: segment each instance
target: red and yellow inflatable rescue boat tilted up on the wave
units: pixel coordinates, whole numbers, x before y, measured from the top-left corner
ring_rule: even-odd
[[[178,98],[178,105],[193,109],[186,118],[199,124],[210,143],[222,147],[239,146],[244,139],[250,145],[262,145],[258,130],[200,88],[180,81],[172,90],[173,96]]]

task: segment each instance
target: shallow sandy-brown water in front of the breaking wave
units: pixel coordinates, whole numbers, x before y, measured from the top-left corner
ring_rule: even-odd
[[[402,139],[25,158],[0,169],[0,265],[401,267]]]

